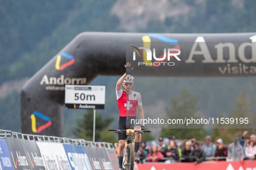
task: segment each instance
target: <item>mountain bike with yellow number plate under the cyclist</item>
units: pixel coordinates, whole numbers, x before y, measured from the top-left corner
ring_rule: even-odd
[[[125,139],[125,161],[123,166],[125,170],[133,170],[134,166],[134,142],[132,137],[137,133],[146,134],[146,132],[150,132],[150,130],[133,130],[133,129],[126,129],[126,130],[119,130],[119,129],[109,129],[109,131],[114,131],[117,134],[126,133],[127,138]]]

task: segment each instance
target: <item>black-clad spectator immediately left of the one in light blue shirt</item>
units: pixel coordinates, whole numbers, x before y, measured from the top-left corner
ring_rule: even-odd
[[[202,151],[199,143],[197,142],[194,143],[194,150],[190,152],[189,156],[191,158],[191,162],[194,162],[194,165],[204,161],[205,154]]]

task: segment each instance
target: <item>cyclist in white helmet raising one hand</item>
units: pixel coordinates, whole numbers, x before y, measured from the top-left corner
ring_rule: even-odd
[[[117,93],[117,104],[119,108],[119,129],[134,129],[134,130],[145,130],[143,126],[144,120],[144,112],[142,107],[141,95],[138,92],[132,91],[134,78],[130,76],[130,72],[133,70],[131,68],[131,64],[126,63],[124,65],[126,68],[126,72],[123,76],[117,81],[116,93]],[[124,86],[124,90],[122,90],[122,84]],[[139,110],[139,119],[141,119],[140,124],[135,124],[136,121],[131,122],[131,120],[136,120],[136,106],[138,106]],[[119,162],[119,170],[123,170],[123,149],[125,146],[126,134],[118,134],[118,143],[119,148],[117,151],[118,162]],[[139,161],[139,146],[141,142],[141,134],[136,134],[135,136],[135,148],[134,148],[134,161]]]

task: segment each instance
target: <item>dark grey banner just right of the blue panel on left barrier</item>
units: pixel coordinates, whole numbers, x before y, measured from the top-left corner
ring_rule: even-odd
[[[105,148],[85,146],[94,170],[113,170]]]

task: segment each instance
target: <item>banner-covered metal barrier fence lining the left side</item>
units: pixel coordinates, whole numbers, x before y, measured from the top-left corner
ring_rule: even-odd
[[[0,167],[3,165],[4,170],[14,170],[11,163],[18,170],[51,170],[53,165],[57,170],[118,170],[112,143],[0,129],[1,156],[6,157],[6,161],[0,160]]]

